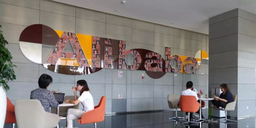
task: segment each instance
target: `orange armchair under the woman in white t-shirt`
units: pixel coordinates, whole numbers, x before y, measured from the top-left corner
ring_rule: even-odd
[[[94,123],[96,128],[96,123],[102,122],[105,119],[105,106],[106,106],[106,96],[102,96],[98,106],[94,107],[94,110],[86,112],[82,115],[81,119],[78,119],[78,123],[87,124]]]

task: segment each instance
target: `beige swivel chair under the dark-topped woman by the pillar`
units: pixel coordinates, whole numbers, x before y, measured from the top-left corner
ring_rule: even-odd
[[[234,111],[234,110],[235,110],[237,95],[233,95],[233,99],[234,99],[234,101],[228,103],[224,109],[219,109],[219,108],[217,108],[217,107],[212,107],[212,108],[215,109],[215,110],[222,110],[222,111],[225,111],[225,120],[219,120],[219,122],[225,121],[225,122],[223,122],[223,123],[237,123],[237,121],[235,121],[235,120],[227,119],[227,111]],[[234,121],[234,122],[227,122],[227,121]]]

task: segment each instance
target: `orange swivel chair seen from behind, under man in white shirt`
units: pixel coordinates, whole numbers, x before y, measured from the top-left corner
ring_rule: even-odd
[[[179,101],[179,106],[180,110],[182,112],[188,112],[188,115],[192,112],[197,112],[200,108],[200,103],[197,102],[197,99],[195,96],[180,96],[180,101]],[[191,121],[184,122],[184,123],[192,123]],[[181,124],[184,124],[181,123]]]

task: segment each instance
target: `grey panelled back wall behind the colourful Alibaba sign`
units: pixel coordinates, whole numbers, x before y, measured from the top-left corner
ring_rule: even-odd
[[[42,73],[53,77],[49,90],[60,89],[65,95],[76,81],[85,79],[95,104],[106,95],[106,113],[169,109],[168,94],[180,94],[185,83],[194,82],[196,89],[208,92],[208,61],[203,60],[198,75],[166,73],[160,79],[152,79],[144,71],[122,70],[123,78],[117,78],[116,69],[102,69],[90,75],[62,75],[45,69],[28,60],[19,47],[22,30],[31,24],[44,24],[55,30],[90,34],[127,41],[126,49],[144,48],[164,56],[164,47],[171,47],[172,54],[194,57],[196,51],[208,52],[208,36],[196,32],[162,26],[141,20],[106,14],[49,0],[0,0],[0,24],[7,48],[17,65],[17,79],[9,82],[7,96],[12,102],[30,98],[30,92],[38,88]],[[49,54],[49,53],[43,53]],[[145,79],[141,75],[145,74]],[[201,75],[203,74],[203,75]],[[123,99],[117,99],[123,94]],[[80,106],[82,107],[82,106]]]

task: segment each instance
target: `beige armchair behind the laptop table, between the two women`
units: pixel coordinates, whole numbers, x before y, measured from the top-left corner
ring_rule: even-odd
[[[65,100],[75,100],[75,99],[74,99],[74,96],[65,96],[64,101]],[[59,107],[59,116],[61,117],[61,119],[63,119],[62,117],[67,117],[67,110],[69,108],[79,109],[79,104],[77,104],[76,106]],[[56,108],[51,108],[51,113],[57,114],[57,109]]]

